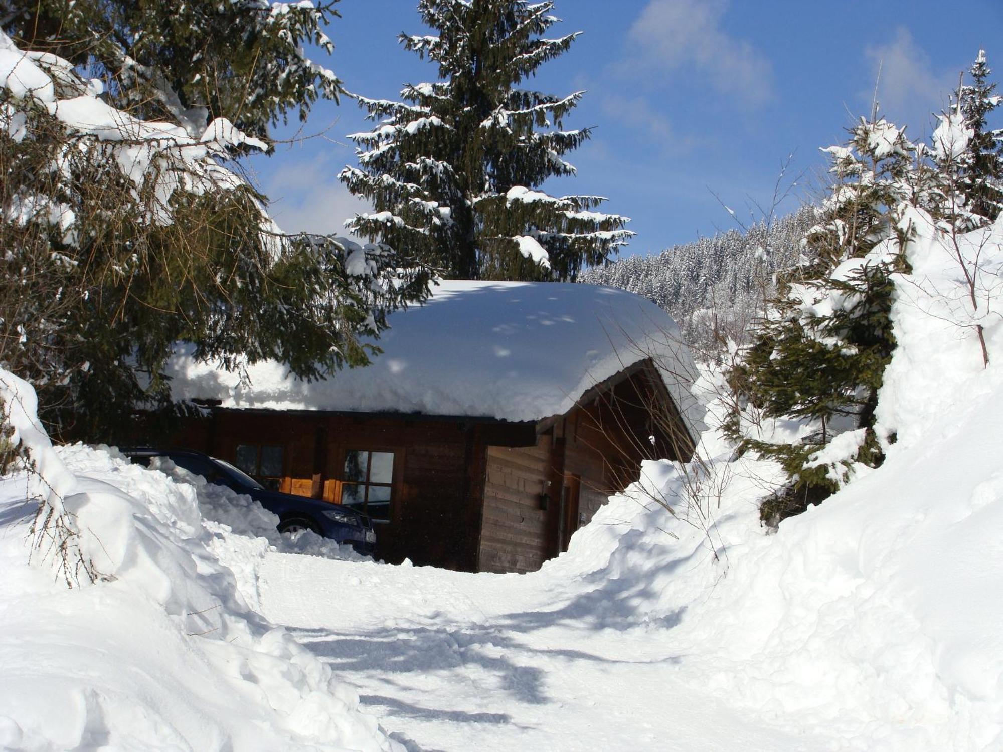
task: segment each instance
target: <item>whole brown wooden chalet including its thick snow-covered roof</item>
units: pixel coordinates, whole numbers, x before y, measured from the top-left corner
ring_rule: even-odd
[[[377,555],[528,572],[648,458],[688,459],[695,374],[659,308],[612,288],[445,282],[389,318],[369,367],[308,383],[184,353],[180,440],[283,491],[365,509]]]

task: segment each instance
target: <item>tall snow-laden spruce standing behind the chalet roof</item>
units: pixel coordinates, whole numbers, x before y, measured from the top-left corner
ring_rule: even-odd
[[[440,80],[406,85],[403,101],[359,97],[379,124],[350,136],[359,166],[340,174],[375,208],[350,221],[353,233],[459,279],[574,279],[626,242],[627,218],[594,211],[603,198],[536,190],[575,173],[564,155],[590,133],[563,127],[584,92],[518,88],[577,36],[541,36],[558,20],[552,8],[420,0],[422,20],[437,33],[401,42],[433,61]]]

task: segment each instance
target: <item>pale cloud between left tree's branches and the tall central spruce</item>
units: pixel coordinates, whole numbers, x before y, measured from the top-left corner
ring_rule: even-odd
[[[330,158],[288,159],[265,175],[262,189],[273,202],[269,213],[279,227],[287,233],[352,238],[345,230],[345,220],[358,212],[372,211],[372,207],[338,181],[340,169]]]

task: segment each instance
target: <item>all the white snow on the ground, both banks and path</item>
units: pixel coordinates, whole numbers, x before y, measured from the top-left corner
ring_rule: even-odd
[[[531,575],[282,552],[265,518],[205,520],[225,499],[191,478],[68,447],[114,579],[67,591],[4,481],[0,748],[998,751],[1003,368],[972,325],[991,355],[1003,327],[950,295],[922,220],[879,411],[898,441],[776,534],[778,467],[712,434],[705,469],[647,463]],[[990,289],[1003,223],[966,244]]]

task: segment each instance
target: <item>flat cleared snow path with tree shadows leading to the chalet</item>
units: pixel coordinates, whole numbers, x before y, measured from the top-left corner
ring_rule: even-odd
[[[355,687],[409,752],[822,750],[692,683],[631,586],[270,553],[264,615]],[[702,674],[702,671],[697,672]],[[727,699],[727,698],[723,698]]]

